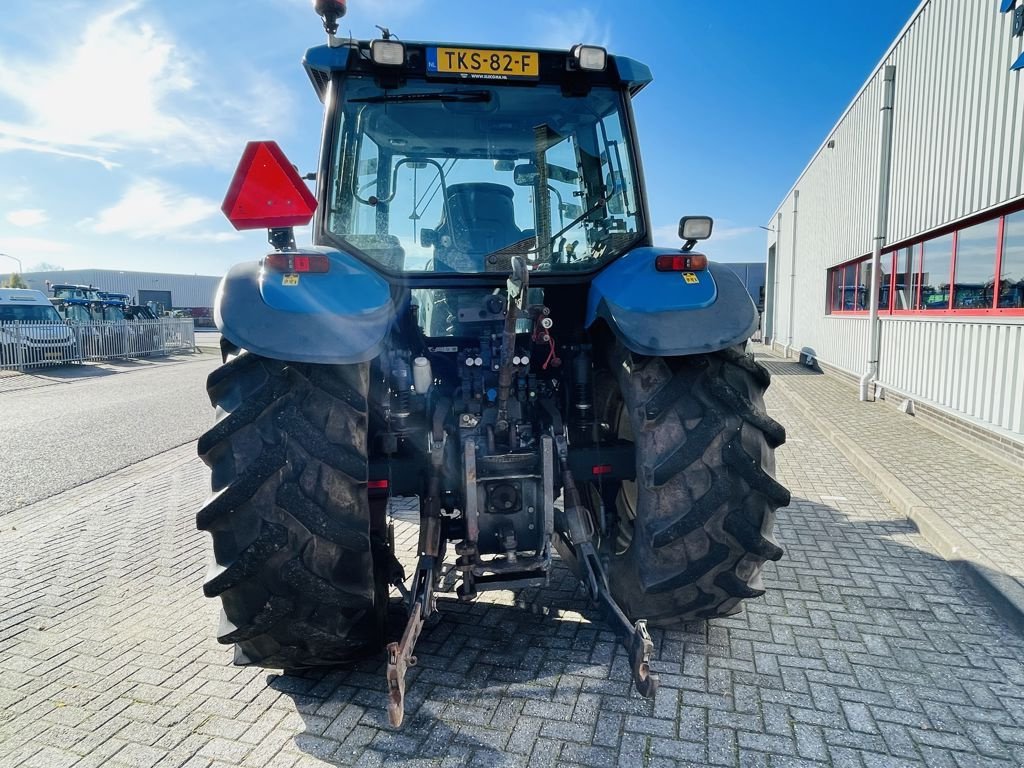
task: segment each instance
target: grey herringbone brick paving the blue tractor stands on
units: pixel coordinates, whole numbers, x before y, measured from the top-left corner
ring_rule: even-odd
[[[1024,764],[1024,641],[778,396],[796,380],[768,398],[786,556],[743,613],[654,632],[655,702],[561,566],[442,597],[401,730],[380,663],[232,667],[185,445],[0,520],[0,766]]]

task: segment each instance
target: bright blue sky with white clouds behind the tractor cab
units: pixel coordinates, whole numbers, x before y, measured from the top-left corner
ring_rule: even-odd
[[[758,228],[918,0],[349,0],[341,29],[410,40],[605,45],[653,70],[635,102],[658,245],[710,214],[712,258],[764,258]],[[220,202],[245,142],[315,168],[321,104],[300,66],[308,0],[8,3],[0,27],[0,253],[222,273],[260,257]],[[302,238],[300,237],[300,242]],[[306,237],[306,240],[308,238]],[[13,266],[0,258],[0,271]]]

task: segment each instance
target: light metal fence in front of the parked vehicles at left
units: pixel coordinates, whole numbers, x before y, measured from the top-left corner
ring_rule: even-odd
[[[0,370],[128,357],[154,357],[196,348],[190,317],[102,323],[0,323]]]

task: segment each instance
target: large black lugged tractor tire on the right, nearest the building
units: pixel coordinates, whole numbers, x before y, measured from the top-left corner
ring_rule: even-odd
[[[768,371],[735,349],[646,357],[617,345],[610,364],[596,415],[637,461],[636,481],[606,500],[612,596],[659,627],[737,612],[782,556],[772,528],[790,503],[774,479],[785,430],[765,413]]]

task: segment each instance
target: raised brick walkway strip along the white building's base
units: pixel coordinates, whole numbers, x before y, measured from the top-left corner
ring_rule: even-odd
[[[928,507],[950,523],[1004,573],[1024,586],[1024,472],[972,452],[886,403],[862,403],[854,385],[806,373],[758,348],[783,392],[814,403],[815,419],[870,452]]]

